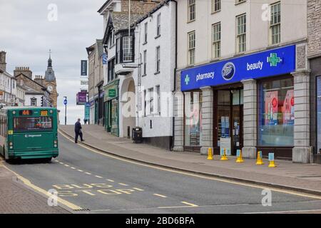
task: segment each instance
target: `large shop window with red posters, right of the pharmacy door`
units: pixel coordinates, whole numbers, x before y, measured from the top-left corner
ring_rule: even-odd
[[[258,145],[293,146],[293,79],[260,83],[259,91]]]

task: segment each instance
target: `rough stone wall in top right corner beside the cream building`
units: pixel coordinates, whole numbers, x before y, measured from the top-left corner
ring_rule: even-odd
[[[307,54],[321,53],[321,0],[307,1]]]

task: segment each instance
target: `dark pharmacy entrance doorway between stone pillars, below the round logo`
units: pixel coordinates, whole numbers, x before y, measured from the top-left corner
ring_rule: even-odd
[[[228,143],[231,155],[243,147],[243,88],[215,90],[214,150]]]

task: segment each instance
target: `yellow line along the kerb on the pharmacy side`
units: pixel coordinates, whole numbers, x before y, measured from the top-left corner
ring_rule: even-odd
[[[62,133],[61,130],[58,130],[58,132],[61,133],[61,135],[63,135],[63,137],[65,137],[67,140],[73,142],[73,140],[68,138],[68,135],[66,135],[65,133]],[[233,184],[233,185],[240,185],[240,186],[245,186],[245,187],[254,187],[254,188],[261,189],[261,190],[269,189],[269,190],[272,190],[274,192],[281,192],[281,193],[285,193],[285,194],[289,194],[289,195],[296,195],[296,196],[300,196],[300,197],[307,197],[307,198],[312,198],[312,199],[321,199],[321,196],[317,196],[317,195],[310,195],[310,194],[294,192],[294,191],[290,191],[290,190],[281,190],[281,189],[278,189],[278,188],[275,188],[275,187],[267,187],[267,186],[263,186],[263,185],[247,184],[247,183],[244,183],[244,182],[238,182],[238,181],[233,181],[233,180],[225,180],[225,179],[223,179],[223,177],[222,178],[219,178],[219,177],[208,177],[208,176],[205,176],[205,175],[193,174],[191,172],[183,172],[183,171],[178,171],[178,170],[172,170],[170,168],[158,167],[157,165],[147,165],[147,164],[144,164],[143,162],[134,162],[132,160],[121,158],[121,157],[118,157],[116,155],[107,154],[106,152],[100,152],[98,150],[93,150],[93,149],[91,149],[91,147],[87,147],[86,145],[81,145],[81,144],[78,144],[78,145],[83,147],[83,148],[86,148],[87,150],[90,150],[91,152],[95,152],[95,153],[97,153],[99,155],[103,155],[105,157],[112,157],[113,159],[116,159],[116,160],[121,160],[123,162],[128,162],[128,163],[132,163],[132,164],[135,164],[135,165],[141,165],[141,166],[144,166],[144,167],[151,167],[151,168],[156,169],[156,170],[174,172],[174,173],[178,173],[178,174],[181,174],[181,175],[187,175],[187,176],[191,176],[191,177],[198,177],[198,178],[202,178],[202,179],[205,179],[205,180],[215,180],[215,181],[225,182],[225,183],[229,183],[229,184]]]

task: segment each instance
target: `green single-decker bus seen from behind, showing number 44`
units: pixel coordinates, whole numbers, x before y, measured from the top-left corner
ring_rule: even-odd
[[[45,107],[0,109],[0,155],[5,160],[58,156],[57,110]]]

